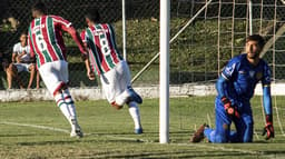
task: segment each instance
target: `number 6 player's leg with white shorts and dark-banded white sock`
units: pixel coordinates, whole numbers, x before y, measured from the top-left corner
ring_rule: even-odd
[[[68,90],[68,64],[65,61],[49,62],[40,67],[39,72],[42,81],[71,126],[71,137],[82,137],[81,128],[78,125],[73,99]]]

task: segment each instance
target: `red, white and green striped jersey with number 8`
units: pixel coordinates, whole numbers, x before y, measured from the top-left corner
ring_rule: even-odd
[[[110,24],[97,23],[89,27],[81,32],[81,39],[89,47],[89,59],[98,76],[108,72],[122,60]]]

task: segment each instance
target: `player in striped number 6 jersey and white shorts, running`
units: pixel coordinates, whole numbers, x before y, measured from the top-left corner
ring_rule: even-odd
[[[91,78],[88,50],[71,22],[58,16],[46,14],[46,6],[36,3],[32,9],[35,18],[29,27],[29,46],[47,89],[53,95],[57,106],[71,125],[70,137],[82,137],[77,121],[76,107],[68,89],[68,62],[62,32],[67,31],[81,51],[87,76]]]

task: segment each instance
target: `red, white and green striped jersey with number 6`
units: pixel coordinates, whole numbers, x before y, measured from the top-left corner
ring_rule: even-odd
[[[46,62],[66,60],[66,46],[61,30],[67,31],[71,22],[58,16],[42,16],[31,21],[28,43],[37,67]]]

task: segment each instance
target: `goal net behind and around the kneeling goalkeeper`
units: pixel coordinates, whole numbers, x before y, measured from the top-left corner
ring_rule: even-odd
[[[244,52],[245,38],[250,33],[259,33],[267,41],[261,57],[272,69],[275,130],[277,136],[284,136],[284,2],[281,0],[174,2],[176,6],[171,6],[171,34],[178,32],[188,21],[190,23],[170,44],[170,83],[184,83],[183,93],[191,98],[186,105],[196,107],[193,111],[200,111],[202,106],[206,111],[205,117],[196,117],[193,111],[181,112],[181,128],[188,129],[189,118],[199,121],[198,126],[204,122],[215,126],[215,81],[227,61]],[[203,11],[197,14],[202,9]],[[265,123],[261,89],[258,85],[256,97],[252,99],[254,133],[257,139]],[[195,129],[196,125],[191,127]]]

